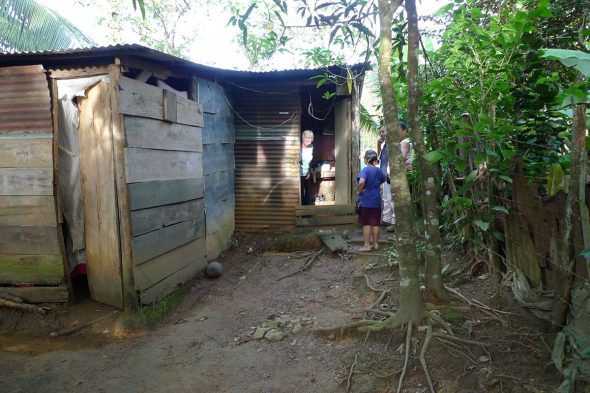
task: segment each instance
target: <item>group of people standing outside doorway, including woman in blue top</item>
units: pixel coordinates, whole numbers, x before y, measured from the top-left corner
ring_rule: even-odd
[[[400,150],[406,170],[412,169],[413,152],[407,137],[406,123],[399,123]],[[389,185],[389,151],[385,142],[385,127],[379,129],[377,151],[367,150],[364,155],[366,167],[357,177],[360,212],[358,223],[363,226],[363,246],[360,251],[379,249],[379,231],[383,222],[386,231],[395,231],[395,212],[393,195]]]

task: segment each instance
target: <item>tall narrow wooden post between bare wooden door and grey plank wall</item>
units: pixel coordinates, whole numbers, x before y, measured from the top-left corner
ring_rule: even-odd
[[[119,212],[119,242],[121,247],[121,270],[123,282],[123,304],[126,310],[137,309],[139,302],[135,293],[133,276],[133,255],[131,238],[131,208],[129,190],[125,178],[125,128],[124,117],[120,112],[119,80],[121,66],[119,59],[116,64],[109,65],[111,113],[113,126],[113,159],[115,164],[115,190]],[[174,96],[176,97],[176,96]]]

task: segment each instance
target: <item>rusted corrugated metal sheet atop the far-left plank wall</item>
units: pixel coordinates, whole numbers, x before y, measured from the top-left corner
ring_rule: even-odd
[[[0,68],[0,135],[51,134],[52,128],[43,67]]]

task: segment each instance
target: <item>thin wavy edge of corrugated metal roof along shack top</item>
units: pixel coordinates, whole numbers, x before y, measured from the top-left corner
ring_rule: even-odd
[[[120,56],[134,56],[145,60],[165,64],[170,67],[179,67],[193,71],[201,71],[225,77],[236,78],[257,78],[257,77],[284,77],[289,76],[296,79],[309,78],[323,69],[309,68],[292,68],[292,69],[274,69],[267,71],[248,71],[248,70],[230,70],[218,67],[211,67],[203,64],[194,63],[189,60],[181,59],[143,45],[126,44],[126,45],[109,45],[90,48],[65,49],[59,51],[43,52],[13,52],[2,53],[0,55],[0,66],[26,65],[32,63],[42,63],[46,67],[60,67],[64,65],[75,65],[83,62],[100,62],[107,59]],[[363,72],[371,69],[369,63],[359,63],[351,66],[357,72]],[[344,68],[341,66],[328,67],[331,72],[341,74]]]

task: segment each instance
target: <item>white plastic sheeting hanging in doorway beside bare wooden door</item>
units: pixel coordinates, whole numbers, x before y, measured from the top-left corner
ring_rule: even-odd
[[[75,98],[84,97],[86,89],[100,81],[108,83],[108,75],[57,81],[59,185],[70,271],[86,262],[78,142],[80,116]]]

